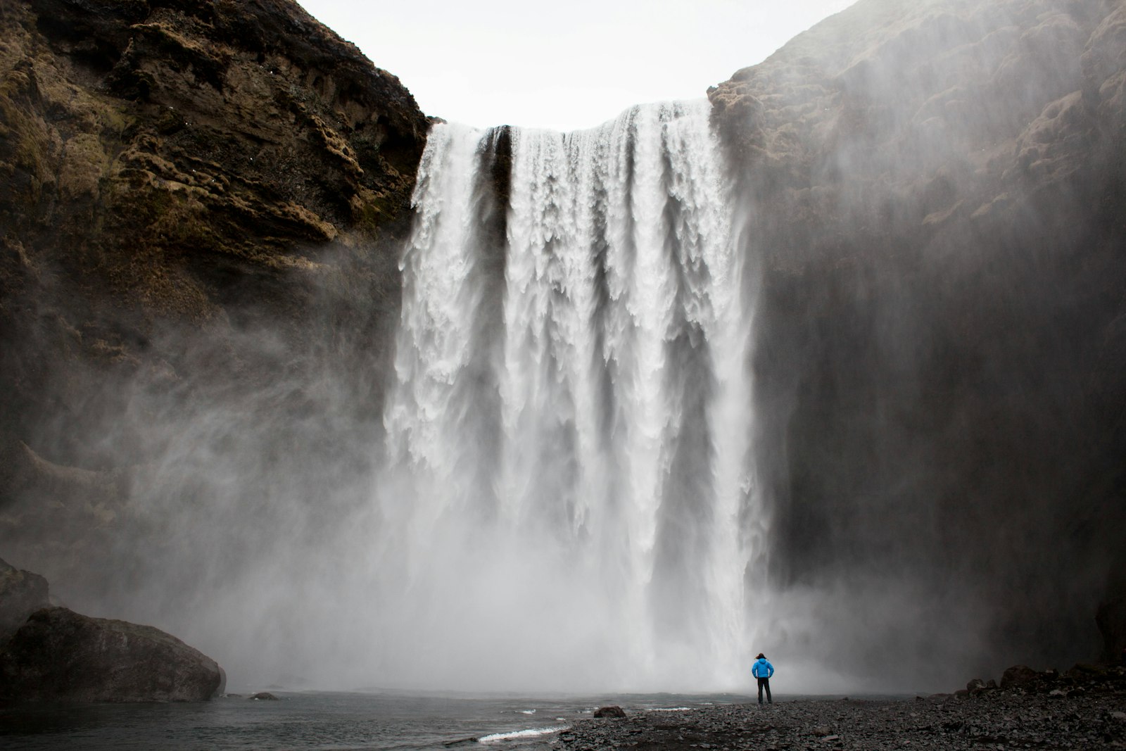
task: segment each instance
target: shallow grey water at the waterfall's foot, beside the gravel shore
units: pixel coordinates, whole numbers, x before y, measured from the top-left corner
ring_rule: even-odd
[[[608,704],[676,712],[750,700],[674,694],[538,697],[272,691],[278,701],[25,705],[0,709],[5,749],[486,749],[545,748]],[[472,740],[470,740],[472,739]],[[457,743],[464,741],[464,743]],[[454,744],[454,745],[450,745]]]

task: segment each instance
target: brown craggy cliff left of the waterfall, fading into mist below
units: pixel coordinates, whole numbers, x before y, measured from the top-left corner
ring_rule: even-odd
[[[395,77],[288,0],[0,2],[12,557],[89,570],[157,524],[138,515],[162,492],[215,497],[215,465],[171,440],[266,440],[251,485],[366,461],[348,446],[378,424],[427,128]],[[319,421],[329,401],[349,409]],[[182,476],[154,485],[170,456]]]

